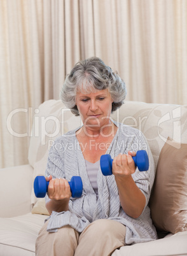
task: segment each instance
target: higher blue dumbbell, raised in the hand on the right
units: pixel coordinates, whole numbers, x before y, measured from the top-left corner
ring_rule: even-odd
[[[146,150],[137,151],[134,160],[135,167],[138,167],[139,171],[148,171],[149,169],[149,159]],[[100,157],[100,169],[104,176],[113,174],[113,159],[111,155],[102,155]]]

